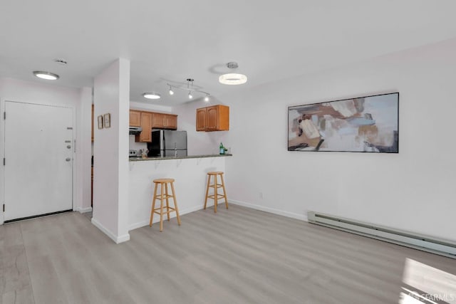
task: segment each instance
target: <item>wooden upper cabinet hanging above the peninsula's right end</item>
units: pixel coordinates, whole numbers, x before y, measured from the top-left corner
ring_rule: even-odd
[[[212,105],[197,109],[197,131],[228,131],[229,107]]]

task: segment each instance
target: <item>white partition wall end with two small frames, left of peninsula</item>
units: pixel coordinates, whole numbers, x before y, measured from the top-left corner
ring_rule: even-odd
[[[120,243],[128,241],[128,120],[130,61],[118,59],[94,81],[92,223]],[[110,128],[98,115],[110,113]]]

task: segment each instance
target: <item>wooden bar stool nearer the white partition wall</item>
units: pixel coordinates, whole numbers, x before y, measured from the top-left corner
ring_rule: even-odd
[[[174,179],[154,179],[155,184],[154,189],[154,197],[152,199],[152,210],[150,211],[150,224],[152,226],[152,219],[154,218],[154,214],[160,214],[160,231],[163,231],[163,214],[167,215],[168,221],[170,221],[170,212],[176,211],[177,216],[177,224],[180,226],[180,216],[179,216],[179,209],[177,209],[177,201],[176,201],[176,194],[174,192]],[[171,185],[171,192],[172,194],[168,194],[168,184]],[[157,188],[160,185],[160,194],[157,194]],[[174,200],[174,208],[170,207],[169,199],[172,197]],[[160,207],[155,208],[155,200],[160,199]],[[166,211],[164,212],[163,200],[166,201]]]

